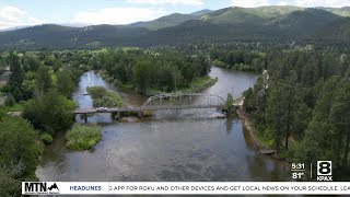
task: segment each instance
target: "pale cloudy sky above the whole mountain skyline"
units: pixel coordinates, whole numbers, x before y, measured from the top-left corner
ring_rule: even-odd
[[[178,12],[260,5],[350,7],[350,0],[0,0],[0,30],[56,24],[128,24]]]

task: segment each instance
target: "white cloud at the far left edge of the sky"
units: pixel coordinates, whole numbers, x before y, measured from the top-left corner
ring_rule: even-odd
[[[42,23],[42,20],[31,16],[16,7],[0,7],[0,30]]]

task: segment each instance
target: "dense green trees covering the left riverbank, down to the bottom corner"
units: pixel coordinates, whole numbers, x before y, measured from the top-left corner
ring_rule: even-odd
[[[1,67],[10,67],[0,108],[0,196],[21,196],[22,181],[37,181],[35,171],[44,143],[73,123],[72,93],[83,70],[69,53],[3,53]],[[79,62],[79,63],[78,63]],[[22,117],[5,112],[22,106]]]

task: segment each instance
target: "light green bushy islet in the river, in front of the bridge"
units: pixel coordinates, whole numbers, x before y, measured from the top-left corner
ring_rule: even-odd
[[[89,150],[102,140],[101,127],[78,125],[66,135],[67,147],[72,150]]]

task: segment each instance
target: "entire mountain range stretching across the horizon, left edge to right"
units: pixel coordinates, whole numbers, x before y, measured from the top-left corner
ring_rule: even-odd
[[[299,7],[225,8],[171,14],[130,25],[39,25],[0,32],[0,48],[155,46],[232,40],[314,39],[349,42],[349,18]]]

